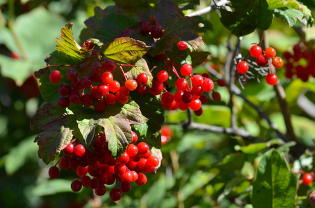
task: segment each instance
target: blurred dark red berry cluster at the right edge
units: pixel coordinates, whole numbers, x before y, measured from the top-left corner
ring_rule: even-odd
[[[310,76],[315,78],[315,49],[313,45],[307,42],[299,42],[293,46],[293,51],[284,52],[283,54],[286,64],[286,78],[293,78],[295,75],[303,82],[307,82]]]

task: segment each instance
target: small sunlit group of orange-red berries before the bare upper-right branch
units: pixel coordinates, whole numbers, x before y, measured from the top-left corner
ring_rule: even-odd
[[[253,58],[256,58],[256,64],[259,67],[264,67],[267,64],[269,64],[269,73],[266,76],[266,83],[268,83],[268,85],[277,84],[277,76],[275,75],[275,73],[271,73],[269,60],[272,59],[271,63],[273,64],[273,67],[277,69],[280,69],[282,67],[283,61],[282,58],[280,58],[279,56],[275,56],[276,55],[275,49],[269,47],[265,51],[262,51],[261,47],[255,44],[250,48],[250,55],[252,55]],[[248,62],[246,61],[239,62],[236,66],[236,69],[240,74],[248,72],[249,69]]]

